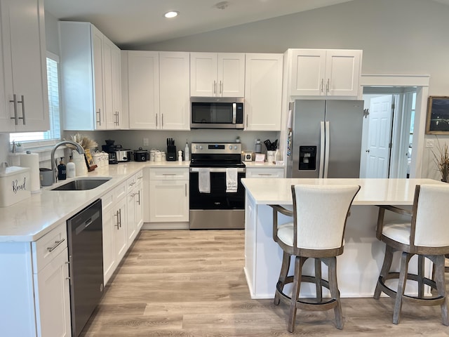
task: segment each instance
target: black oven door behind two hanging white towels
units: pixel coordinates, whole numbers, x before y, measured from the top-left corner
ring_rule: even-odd
[[[190,168],[190,209],[245,209],[245,169],[238,169],[237,192],[226,192],[226,169],[210,169],[210,193],[199,192],[198,169]]]

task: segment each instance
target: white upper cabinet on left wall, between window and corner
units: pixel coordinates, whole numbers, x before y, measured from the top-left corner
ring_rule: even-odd
[[[59,22],[65,130],[121,126],[119,48],[89,22]]]

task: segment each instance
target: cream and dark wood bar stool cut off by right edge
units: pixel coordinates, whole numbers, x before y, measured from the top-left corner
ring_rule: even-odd
[[[386,210],[411,216],[411,218],[384,223]],[[449,253],[448,219],[449,185],[417,185],[412,211],[395,206],[379,206],[376,237],[387,246],[374,298],[378,299],[382,292],[395,298],[394,324],[398,324],[401,319],[403,300],[410,301],[414,305],[440,305],[441,320],[444,325],[449,324],[444,276],[445,255]],[[395,251],[401,252],[399,272],[390,271]],[[416,275],[408,272],[408,263],[414,255],[418,257]],[[434,263],[432,279],[424,277],[424,258]],[[398,279],[396,290],[385,284],[388,279]],[[417,282],[417,296],[404,294],[406,282],[410,280]],[[424,285],[436,289],[437,295],[424,296]]]

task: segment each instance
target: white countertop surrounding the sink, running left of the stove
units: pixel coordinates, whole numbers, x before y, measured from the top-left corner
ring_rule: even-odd
[[[0,208],[0,242],[36,241],[144,167],[189,168],[189,161],[128,161],[97,168],[86,176],[112,179],[93,190],[51,190],[73,179],[44,187],[41,192],[32,194],[28,199]]]

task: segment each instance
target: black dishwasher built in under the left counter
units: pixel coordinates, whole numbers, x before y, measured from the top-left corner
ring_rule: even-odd
[[[72,336],[77,337],[103,291],[101,199],[67,220]]]

